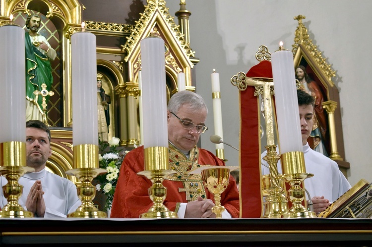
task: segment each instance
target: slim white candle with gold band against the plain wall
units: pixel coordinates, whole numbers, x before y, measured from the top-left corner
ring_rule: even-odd
[[[223,137],[222,131],[222,109],[221,109],[221,92],[220,92],[220,74],[213,69],[211,74],[212,79],[212,101],[213,101],[213,119],[214,119],[214,133]],[[223,149],[223,143],[216,144],[216,149]]]

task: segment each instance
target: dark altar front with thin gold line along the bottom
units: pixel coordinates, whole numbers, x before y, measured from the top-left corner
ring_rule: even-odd
[[[372,219],[0,219],[0,245],[370,246]]]

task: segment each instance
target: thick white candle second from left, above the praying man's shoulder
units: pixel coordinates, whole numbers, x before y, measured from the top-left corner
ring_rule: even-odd
[[[71,36],[73,145],[98,145],[96,36]]]

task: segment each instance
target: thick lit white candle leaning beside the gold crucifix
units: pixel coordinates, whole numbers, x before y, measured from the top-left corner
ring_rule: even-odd
[[[296,92],[293,54],[280,50],[271,55],[272,74],[275,91],[276,118],[279,131],[280,154],[303,151],[300,114]]]

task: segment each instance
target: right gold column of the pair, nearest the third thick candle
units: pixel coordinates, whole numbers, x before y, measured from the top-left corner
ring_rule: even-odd
[[[137,124],[137,96],[139,95],[138,84],[127,82],[126,102],[128,109],[128,147],[138,145],[138,124]]]

